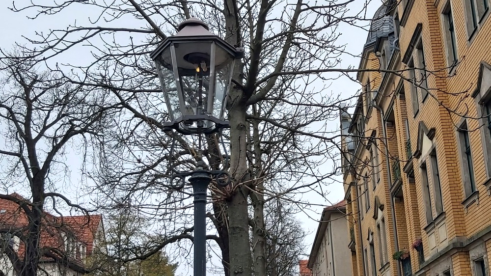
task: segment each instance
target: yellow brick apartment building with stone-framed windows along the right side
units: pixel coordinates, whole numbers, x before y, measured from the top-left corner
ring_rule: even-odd
[[[490,2],[375,14],[340,114],[354,276],[490,276]]]

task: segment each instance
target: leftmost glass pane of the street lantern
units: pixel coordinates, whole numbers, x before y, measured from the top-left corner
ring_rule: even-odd
[[[165,51],[167,52],[167,51]],[[165,55],[164,52],[164,55]],[[169,58],[170,60],[170,51]],[[162,90],[164,91],[165,104],[167,105],[167,112],[169,113],[170,120],[173,121],[181,116],[181,108],[179,103],[179,95],[177,92],[176,80],[174,77],[174,71],[172,64],[165,62],[165,59],[157,61],[157,68],[159,79],[161,81]]]

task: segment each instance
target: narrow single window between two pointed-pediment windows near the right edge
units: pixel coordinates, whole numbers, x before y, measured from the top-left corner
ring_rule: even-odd
[[[464,122],[459,128],[459,144],[462,162],[462,182],[464,183],[465,197],[476,191],[476,182],[474,179],[474,167],[472,165],[472,152],[470,148],[469,131],[467,122]]]

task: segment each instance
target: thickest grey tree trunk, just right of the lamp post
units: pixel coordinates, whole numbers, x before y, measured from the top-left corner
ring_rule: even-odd
[[[237,2],[224,0],[224,15],[226,25],[225,40],[235,47],[242,45],[239,26],[239,12]],[[244,83],[244,67],[242,61],[237,60],[234,66],[233,79]],[[249,242],[249,216],[247,198],[249,190],[244,187],[250,180],[247,167],[247,136],[246,112],[247,99],[243,89],[232,86],[229,94],[229,121],[230,121],[230,176],[234,193],[227,202],[229,220],[229,254],[230,275],[251,276],[252,256]]]

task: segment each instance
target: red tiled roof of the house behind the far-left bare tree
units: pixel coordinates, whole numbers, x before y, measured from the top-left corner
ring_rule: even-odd
[[[18,193],[9,194],[10,196],[25,201],[30,201]],[[86,254],[90,254],[93,249],[96,232],[101,225],[101,215],[61,217],[43,211],[41,221],[40,248],[57,248],[64,251],[64,235],[72,235],[75,241],[81,242],[86,246]],[[26,212],[18,204],[8,199],[0,198],[0,228],[10,228],[27,231],[28,219]],[[24,256],[26,248],[23,242],[19,244],[17,254],[20,258]],[[80,254],[75,257],[80,261]],[[42,258],[43,261],[53,260],[48,256]]]

